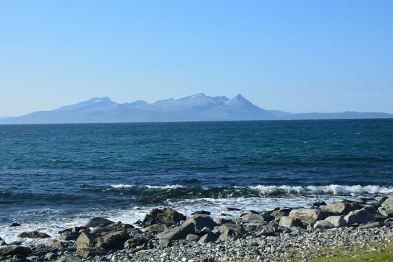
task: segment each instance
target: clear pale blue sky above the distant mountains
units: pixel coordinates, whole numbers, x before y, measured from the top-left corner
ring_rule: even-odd
[[[0,2],[0,116],[197,93],[393,113],[393,1]]]

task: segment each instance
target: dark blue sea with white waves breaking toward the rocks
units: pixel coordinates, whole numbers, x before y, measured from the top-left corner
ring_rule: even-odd
[[[17,236],[58,238],[95,216],[135,224],[154,208],[216,219],[382,196],[393,196],[393,119],[0,125],[8,243],[42,245]]]

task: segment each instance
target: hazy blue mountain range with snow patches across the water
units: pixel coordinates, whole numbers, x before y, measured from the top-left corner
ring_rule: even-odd
[[[52,111],[37,111],[20,117],[1,117],[0,124],[111,123],[111,122],[177,122],[393,118],[387,113],[309,113],[291,114],[265,110],[242,97],[210,97],[203,93],[181,99],[167,99],[147,104],[138,100],[117,104],[108,97],[93,98]]]

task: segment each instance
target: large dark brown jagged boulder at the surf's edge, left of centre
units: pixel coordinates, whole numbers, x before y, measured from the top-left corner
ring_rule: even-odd
[[[150,214],[146,214],[141,226],[148,227],[154,224],[176,225],[186,219],[185,215],[173,209],[153,209]]]

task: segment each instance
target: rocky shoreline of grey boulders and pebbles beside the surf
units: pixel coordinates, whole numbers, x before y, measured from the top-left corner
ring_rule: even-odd
[[[237,209],[224,211],[233,210]],[[383,252],[385,241],[393,236],[393,198],[387,197],[314,203],[309,209],[250,210],[216,221],[209,215],[201,210],[187,218],[169,208],[154,209],[136,222],[137,227],[95,217],[84,226],[58,232],[58,240],[51,239],[46,246],[18,242],[10,246],[0,239],[0,261],[308,261],[337,256],[338,250]],[[51,236],[33,231],[18,237]]]

